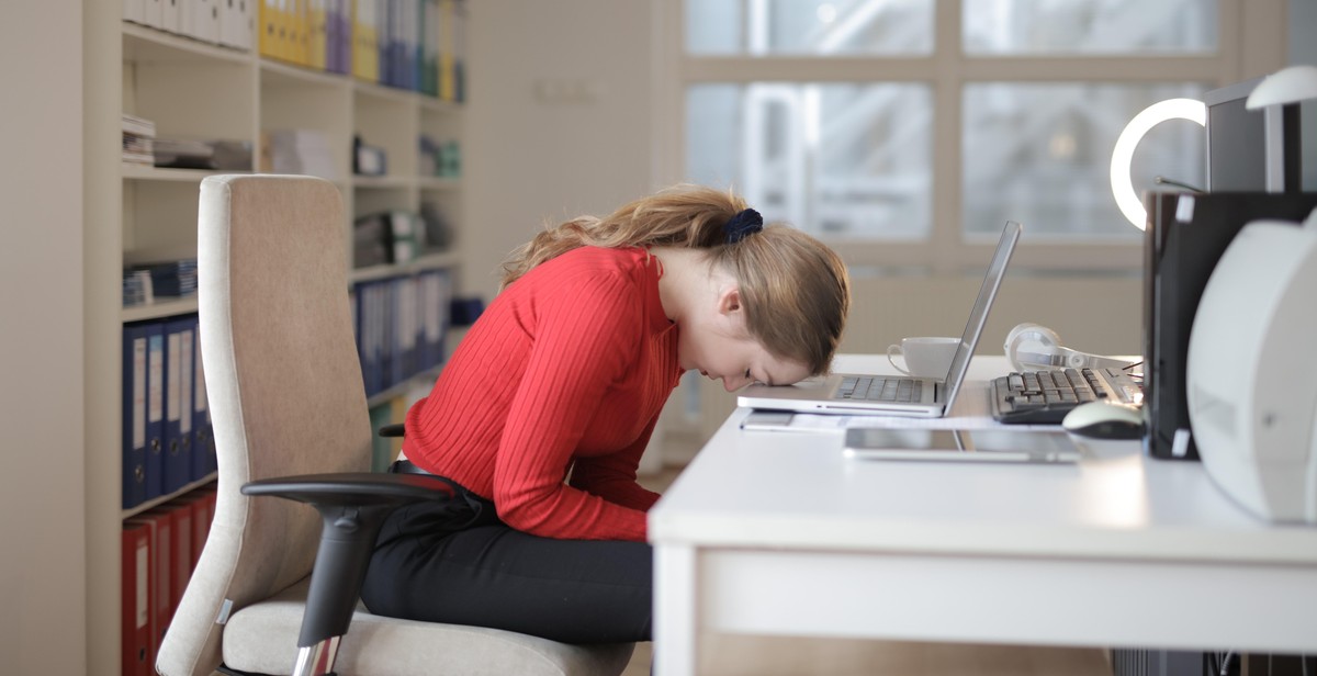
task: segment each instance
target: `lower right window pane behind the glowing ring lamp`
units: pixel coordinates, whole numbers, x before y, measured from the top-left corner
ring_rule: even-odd
[[[1034,235],[1138,239],[1112,196],[1112,149],[1143,108],[1192,84],[969,84],[964,90],[964,232],[993,235],[1018,220]],[[1155,177],[1201,187],[1202,128],[1171,120],[1134,153],[1135,192],[1173,190]]]

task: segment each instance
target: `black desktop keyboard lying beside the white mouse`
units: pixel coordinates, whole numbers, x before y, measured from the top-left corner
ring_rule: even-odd
[[[1119,369],[1017,372],[992,381],[992,415],[1002,423],[1060,423],[1098,399],[1142,403],[1143,390]]]

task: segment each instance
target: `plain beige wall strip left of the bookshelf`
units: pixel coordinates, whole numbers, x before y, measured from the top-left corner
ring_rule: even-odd
[[[0,21],[0,671],[86,673],[82,3]]]

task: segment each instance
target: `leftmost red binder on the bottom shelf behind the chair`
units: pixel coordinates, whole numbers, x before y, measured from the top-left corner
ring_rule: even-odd
[[[122,535],[122,625],[124,676],[150,676],[151,668],[151,534],[142,523],[124,524]]]

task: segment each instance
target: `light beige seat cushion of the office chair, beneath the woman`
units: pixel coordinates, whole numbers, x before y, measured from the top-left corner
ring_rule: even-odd
[[[291,673],[309,578],[234,613],[224,629],[224,664],[255,673]],[[460,650],[454,650],[460,648]],[[415,622],[357,605],[338,646],[340,676],[616,675],[633,643],[572,646],[497,629]]]

